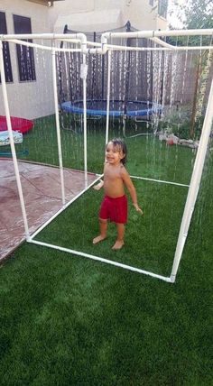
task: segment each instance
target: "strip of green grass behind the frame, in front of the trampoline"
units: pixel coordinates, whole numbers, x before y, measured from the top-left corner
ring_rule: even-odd
[[[69,126],[69,123],[66,124]],[[61,130],[63,165],[67,168],[84,169],[83,134],[79,122],[71,122],[74,131]],[[88,121],[88,170],[102,172],[105,152],[106,121]],[[195,154],[189,148],[166,147],[154,135],[128,138],[135,133],[152,133],[145,124],[126,127],[128,170],[131,174],[155,179],[168,179],[189,183]],[[122,124],[110,121],[109,138],[123,136]],[[24,151],[28,154],[25,155]],[[10,152],[9,146],[4,152]],[[37,119],[31,132],[23,136],[23,143],[16,145],[18,158],[59,165],[57,134],[54,116]]]

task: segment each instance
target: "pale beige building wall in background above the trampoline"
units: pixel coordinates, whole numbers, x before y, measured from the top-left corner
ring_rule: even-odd
[[[63,32],[66,23],[69,24],[70,29],[78,29],[78,31],[86,31],[85,24],[87,24],[88,31],[88,16],[90,17],[92,12],[94,12],[94,20],[93,23],[89,22],[89,31],[103,31],[103,28],[96,29],[98,26],[95,19],[97,11],[101,11],[102,17],[105,19],[106,29],[115,28],[108,17],[109,10],[112,12],[115,10],[115,13],[120,10],[121,15],[117,20],[116,27],[124,25],[129,20],[138,30],[166,29],[165,19],[159,18],[157,15],[157,4],[157,0],[155,0],[153,7],[149,4],[149,0],[79,0],[78,2],[76,0],[64,0],[56,2],[50,9],[51,31]]]

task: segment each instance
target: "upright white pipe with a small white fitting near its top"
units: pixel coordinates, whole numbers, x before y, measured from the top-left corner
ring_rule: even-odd
[[[82,53],[83,61],[81,67],[81,78],[83,79],[83,106],[84,106],[84,182],[88,188],[88,133],[87,133],[87,76],[88,66],[86,53]]]

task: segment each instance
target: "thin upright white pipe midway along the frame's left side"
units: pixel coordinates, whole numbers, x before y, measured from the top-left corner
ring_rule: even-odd
[[[62,205],[65,205],[63,162],[62,162],[62,152],[61,152],[61,142],[60,142],[60,115],[59,115],[59,107],[58,107],[56,61],[55,61],[54,50],[51,52],[51,59],[52,59],[53,95],[54,95],[54,105],[55,105],[55,122],[56,122],[56,133],[57,133],[57,142],[58,142],[59,163],[60,163],[61,199],[62,199]]]

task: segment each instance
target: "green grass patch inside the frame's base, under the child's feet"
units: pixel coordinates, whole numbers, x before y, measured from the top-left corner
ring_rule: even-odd
[[[35,239],[170,276],[187,188],[138,180],[134,186],[144,216],[135,211],[129,198],[129,220],[122,250],[111,250],[116,242],[114,224],[108,225],[106,241],[92,244],[99,232],[98,210],[103,198],[103,192],[92,188]],[[175,205],[171,203],[171,195],[175,195]]]

